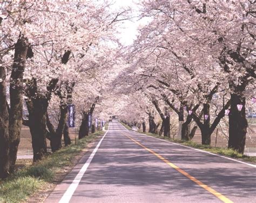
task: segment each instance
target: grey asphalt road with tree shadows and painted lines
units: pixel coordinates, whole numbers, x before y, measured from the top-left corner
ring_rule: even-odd
[[[45,202],[256,202],[256,166],[113,121]]]

